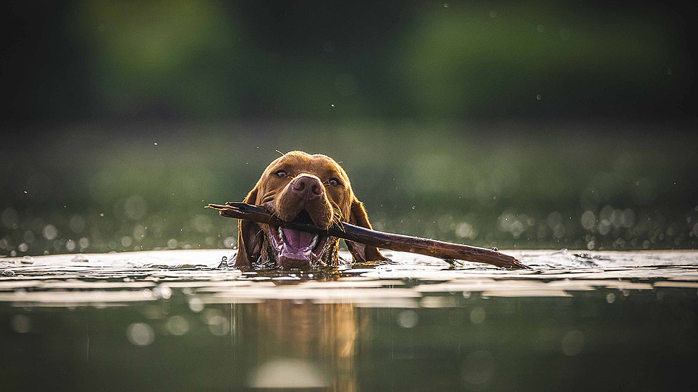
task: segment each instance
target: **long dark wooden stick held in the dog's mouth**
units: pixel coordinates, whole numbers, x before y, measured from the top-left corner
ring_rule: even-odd
[[[233,201],[229,201],[228,203],[225,203],[225,205],[209,204],[206,207],[218,210],[218,213],[224,217],[235,217],[237,219],[252,220],[254,222],[267,223],[278,227],[300,230],[302,232],[335,236],[337,238],[347,239],[349,241],[359,242],[369,246],[390,249],[391,251],[418,253],[420,255],[442,258],[447,261],[474,261],[515,270],[529,268],[526,265],[521,264],[521,262],[516,260],[516,258],[499,253],[496,248],[487,249],[480,248],[478,246],[453,244],[451,242],[437,241],[434,239],[425,239],[415,236],[378,232],[376,230],[349,225],[347,222],[340,222],[339,224],[335,223],[327,230],[323,230],[315,225],[280,220],[278,217],[271,215],[264,208]],[[449,261],[449,263],[451,263],[451,261]]]

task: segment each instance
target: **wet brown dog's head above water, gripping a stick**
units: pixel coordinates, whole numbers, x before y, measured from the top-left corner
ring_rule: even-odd
[[[274,160],[262,173],[245,203],[266,208],[282,220],[313,223],[327,229],[332,222],[371,228],[361,201],[354,196],[347,173],[332,158],[292,151]],[[337,264],[339,239],[240,220],[235,267],[274,263],[282,268]],[[378,248],[345,241],[354,261],[387,260]]]

